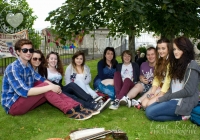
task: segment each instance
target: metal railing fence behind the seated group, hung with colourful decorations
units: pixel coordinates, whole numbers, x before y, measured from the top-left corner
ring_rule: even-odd
[[[124,38],[121,38],[121,42],[119,43],[119,45],[117,47],[115,47],[115,45],[117,45],[117,43],[114,42],[114,39],[109,39],[109,44],[108,43],[102,44],[103,38],[101,38],[101,39],[92,38],[92,39],[93,40],[91,40],[91,41],[98,42],[98,43],[96,43],[98,51],[94,51],[95,46],[93,46],[92,48],[86,48],[86,46],[82,46],[82,47],[78,47],[78,48],[66,49],[63,46],[56,46],[56,44],[53,44],[50,46],[49,44],[44,43],[45,41],[43,43],[41,42],[39,49],[44,53],[45,56],[46,56],[46,54],[50,53],[51,51],[57,52],[64,65],[67,65],[71,62],[71,57],[74,54],[74,52],[76,52],[77,50],[83,51],[86,55],[87,60],[101,58],[102,54],[103,54],[103,50],[108,46],[115,48],[116,55],[120,55],[122,51],[126,50],[127,40]],[[106,42],[108,40],[108,38],[104,38],[104,40]],[[16,60],[16,58],[14,58],[14,57],[1,58],[0,59],[0,75],[2,75],[4,73],[5,68],[15,60]]]

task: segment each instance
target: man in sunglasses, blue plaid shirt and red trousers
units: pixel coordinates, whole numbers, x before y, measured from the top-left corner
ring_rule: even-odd
[[[92,116],[85,113],[88,110],[78,102],[63,94],[60,86],[34,71],[28,62],[34,52],[30,40],[18,40],[15,51],[18,59],[7,66],[2,84],[1,104],[8,114],[22,115],[48,101],[70,118],[85,120]]]

